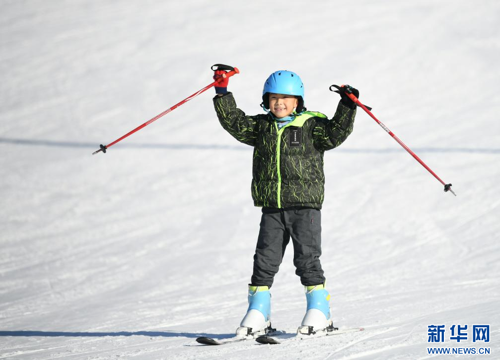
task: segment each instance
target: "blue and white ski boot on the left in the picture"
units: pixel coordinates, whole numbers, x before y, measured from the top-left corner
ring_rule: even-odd
[[[267,286],[248,286],[248,310],[236,335],[257,337],[271,329],[271,294]]]

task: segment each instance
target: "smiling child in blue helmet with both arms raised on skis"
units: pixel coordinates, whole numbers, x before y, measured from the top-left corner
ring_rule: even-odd
[[[224,77],[217,69],[213,78]],[[331,120],[306,111],[304,86],[291,71],[273,72],[264,83],[261,107],[266,112],[245,115],[227,92],[229,78],[215,87],[215,111],[222,127],[236,140],[253,146],[251,194],[262,208],[253,256],[248,310],[237,335],[258,336],[270,327],[270,293],[274,275],[290,237],[295,274],[305,287],[307,310],[297,333],[332,329],[330,296],[319,262],[321,204],[324,197],[323,153],[340,145],[352,132],[356,105],[340,91]],[[346,85],[357,97],[359,91]]]

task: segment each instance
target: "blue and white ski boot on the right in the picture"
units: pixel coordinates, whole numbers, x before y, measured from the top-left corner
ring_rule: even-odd
[[[307,310],[297,334],[312,335],[333,329],[329,306],[330,295],[324,289],[324,285],[306,286],[305,298]]]

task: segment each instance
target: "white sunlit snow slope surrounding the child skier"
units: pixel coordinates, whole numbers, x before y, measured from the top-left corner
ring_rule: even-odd
[[[498,1],[2,1],[0,359],[500,359]],[[260,211],[251,148],[213,90],[91,153],[238,66],[248,114],[276,69],[332,116],[349,83],[442,186],[362,110],[325,154],[323,255],[334,324],[363,333],[262,346],[246,311]],[[289,248],[272,322],[305,310]],[[449,340],[453,324],[468,341]],[[470,328],[490,324],[490,342]],[[439,358],[439,357],[438,357]],[[445,358],[441,356],[440,358]]]

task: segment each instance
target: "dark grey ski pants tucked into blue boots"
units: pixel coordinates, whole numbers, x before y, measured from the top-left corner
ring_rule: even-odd
[[[321,212],[318,209],[292,207],[262,208],[260,231],[253,256],[251,285],[272,285],[288,242],[293,243],[295,274],[304,286],[324,283],[321,256]]]

